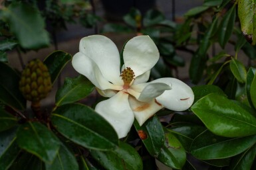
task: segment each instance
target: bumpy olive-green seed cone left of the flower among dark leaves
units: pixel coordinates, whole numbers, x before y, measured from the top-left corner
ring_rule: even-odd
[[[41,101],[51,89],[51,76],[47,66],[39,59],[31,60],[22,71],[19,81],[19,90],[25,99],[32,102]]]

